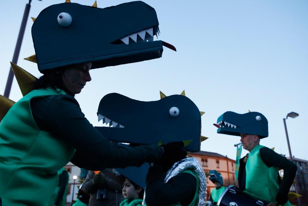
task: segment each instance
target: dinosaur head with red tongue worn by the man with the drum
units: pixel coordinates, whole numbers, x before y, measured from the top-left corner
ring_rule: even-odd
[[[259,112],[237,114],[233,111],[223,113],[217,119],[217,133],[240,136],[243,134],[258,135],[261,139],[268,137],[268,121]]]

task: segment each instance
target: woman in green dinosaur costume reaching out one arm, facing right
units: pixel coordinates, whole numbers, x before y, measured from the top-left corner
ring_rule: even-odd
[[[124,20],[106,21],[112,15]],[[125,21],[131,25],[128,30],[121,26]],[[39,14],[32,26],[36,55],[28,59],[37,63],[43,76],[36,80],[12,64],[16,78],[22,76],[18,84],[24,97],[16,103],[1,97],[1,103],[11,107],[9,111],[0,107],[7,112],[0,124],[3,206],[47,206],[58,183],[57,171],[69,161],[81,168],[101,170],[140,166],[160,159],[163,153],[178,155],[157,145],[133,148],[111,144],[107,135],[89,123],[74,98],[91,81],[90,69],[161,57],[163,42],[150,42],[156,32],[156,12],[144,2],[101,9],[67,0]],[[139,35],[141,40],[126,44],[135,33],[133,38]]]

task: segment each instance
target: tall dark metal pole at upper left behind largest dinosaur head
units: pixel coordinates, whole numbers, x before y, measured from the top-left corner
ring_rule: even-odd
[[[20,26],[20,29],[19,29],[19,34],[18,34],[18,38],[17,38],[17,42],[16,42],[16,46],[15,46],[15,51],[14,51],[14,55],[13,55],[13,60],[12,60],[12,62],[14,64],[17,64],[17,60],[18,60],[18,56],[19,56],[19,52],[20,52],[20,47],[21,47],[21,44],[22,44],[23,35],[24,35],[25,29],[26,29],[27,19],[29,17],[29,12],[30,12],[30,7],[31,7],[30,3],[31,3],[31,0],[29,0],[29,3],[26,4],[26,8],[25,8],[25,11],[23,13],[22,22],[21,22],[21,26]],[[7,98],[9,98],[9,96],[10,96],[10,91],[11,91],[13,79],[14,79],[14,72],[12,70],[12,67],[10,66],[9,76],[7,78],[7,81],[6,81],[6,86],[5,86],[4,95],[3,95]]]

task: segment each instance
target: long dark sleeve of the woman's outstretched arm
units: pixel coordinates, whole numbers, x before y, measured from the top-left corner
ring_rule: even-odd
[[[78,102],[70,95],[35,98],[30,104],[39,128],[53,132],[72,145],[79,154],[84,154],[85,158],[99,165],[100,168],[95,169],[141,166],[162,156],[163,149],[157,145],[130,147],[111,144],[84,117]],[[94,169],[84,165],[85,158],[79,162],[75,157],[73,161],[79,166],[83,165],[84,169]]]

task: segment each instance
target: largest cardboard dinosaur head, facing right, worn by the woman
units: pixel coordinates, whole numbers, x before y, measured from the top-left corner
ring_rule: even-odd
[[[96,6],[96,4],[95,4]],[[55,4],[34,19],[32,38],[39,71],[92,62],[92,69],[160,58],[156,11],[136,1],[97,8],[77,3]]]

